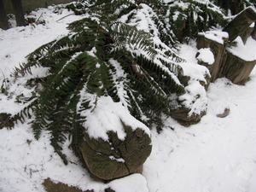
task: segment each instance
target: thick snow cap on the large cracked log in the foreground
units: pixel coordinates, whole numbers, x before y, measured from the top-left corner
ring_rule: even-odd
[[[101,137],[108,141],[107,132],[113,131],[117,133],[120,140],[125,140],[126,133],[122,122],[131,126],[133,130],[140,128],[150,136],[148,127],[135,119],[121,102],[113,102],[110,96],[97,97],[95,102],[94,108],[81,112],[81,115],[86,117],[84,128],[90,137],[96,139]]]

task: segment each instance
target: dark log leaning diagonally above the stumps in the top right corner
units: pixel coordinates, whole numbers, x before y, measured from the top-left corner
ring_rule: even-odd
[[[241,35],[242,32],[245,32],[255,21],[256,13],[249,7],[244,9],[241,14],[237,15],[234,20],[231,20],[228,26],[224,27],[223,31],[229,33],[229,40],[232,42]]]

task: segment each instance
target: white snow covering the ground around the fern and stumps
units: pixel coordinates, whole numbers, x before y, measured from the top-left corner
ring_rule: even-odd
[[[0,31],[0,86],[9,85],[16,95],[24,93],[22,79],[13,82],[10,73],[25,62],[25,56],[62,34],[67,23],[82,16],[69,15],[63,10],[54,14],[53,8],[32,12],[42,15],[46,25],[13,27]],[[63,16],[69,15],[63,19]],[[61,20],[59,20],[61,19]],[[58,21],[57,21],[58,20]],[[256,45],[250,38],[249,44]],[[256,51],[256,46],[252,46]],[[195,44],[183,45],[181,55],[195,61]],[[40,72],[38,72],[38,75]],[[207,90],[208,109],[201,122],[185,128],[173,119],[166,119],[163,131],[151,131],[153,150],[144,164],[143,175],[134,174],[99,183],[92,180],[65,144],[69,163],[65,166],[49,144],[49,134],[43,131],[37,141],[28,120],[12,130],[0,130],[0,191],[43,192],[44,179],[67,183],[80,189],[116,192],[254,192],[256,191],[256,68],[246,85],[218,79]],[[9,83],[7,82],[9,79]],[[12,86],[10,86],[12,85]],[[27,93],[29,94],[29,93]],[[12,97],[0,95],[0,113],[15,113],[19,103]],[[218,118],[230,108],[230,114]],[[172,129],[171,129],[172,128]]]

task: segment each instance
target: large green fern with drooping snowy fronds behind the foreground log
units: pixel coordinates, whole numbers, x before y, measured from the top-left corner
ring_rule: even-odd
[[[170,113],[170,96],[184,91],[174,78],[182,69],[163,54],[160,59],[150,33],[97,15],[74,21],[68,29],[67,36],[34,50],[14,72],[19,78],[32,73],[33,66],[49,67],[33,102],[32,131],[36,139],[44,129],[50,131],[51,144],[65,163],[61,143],[70,137],[79,155],[83,112],[96,108],[97,98],[111,96],[150,126],[157,114]]]

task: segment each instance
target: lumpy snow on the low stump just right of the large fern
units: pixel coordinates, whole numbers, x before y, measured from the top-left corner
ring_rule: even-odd
[[[207,67],[198,65],[193,62],[185,62],[179,64],[183,67],[183,75],[189,76],[189,84],[185,87],[186,93],[179,96],[179,100],[182,101],[183,106],[191,108],[189,116],[193,113],[200,114],[207,110],[207,92],[205,87],[200,84],[204,82],[207,84],[205,79],[206,75],[210,76]]]

